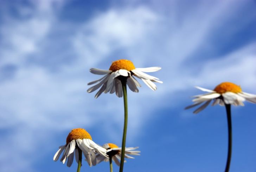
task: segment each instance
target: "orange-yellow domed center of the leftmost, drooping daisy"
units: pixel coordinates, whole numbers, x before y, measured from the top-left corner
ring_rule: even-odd
[[[66,144],[68,144],[69,142],[71,142],[72,140],[76,140],[76,139],[91,139],[91,135],[85,131],[85,129],[73,129],[71,130],[71,132],[69,133],[67,139],[66,139]]]

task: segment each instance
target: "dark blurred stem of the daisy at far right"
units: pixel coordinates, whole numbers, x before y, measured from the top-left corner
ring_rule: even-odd
[[[229,172],[229,166],[231,161],[231,152],[232,152],[232,124],[231,124],[231,107],[230,104],[225,104],[228,118],[228,130],[229,130],[229,147],[228,147],[228,159],[226,163],[225,172]]]

